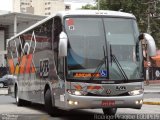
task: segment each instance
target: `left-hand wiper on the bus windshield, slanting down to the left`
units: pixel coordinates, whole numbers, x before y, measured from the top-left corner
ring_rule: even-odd
[[[102,65],[103,65],[104,63],[105,63],[105,68],[107,68],[106,59],[107,59],[107,61],[108,61],[108,56],[106,56],[106,54],[105,54],[104,46],[103,46],[103,53],[104,53],[104,58],[103,58],[103,59],[101,60],[101,62],[98,64],[96,70],[93,72],[93,76],[90,77],[90,80],[93,80],[93,79],[95,78],[95,76],[96,76],[95,73],[97,73],[97,72],[100,70],[100,68],[102,67]]]

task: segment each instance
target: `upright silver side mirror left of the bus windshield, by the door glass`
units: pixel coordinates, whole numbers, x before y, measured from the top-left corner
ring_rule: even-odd
[[[65,32],[61,32],[59,35],[59,53],[60,57],[67,56],[67,35]]]

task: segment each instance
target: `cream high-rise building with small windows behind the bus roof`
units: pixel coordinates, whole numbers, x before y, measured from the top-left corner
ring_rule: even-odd
[[[64,0],[14,0],[15,12],[27,12],[28,7],[33,7],[35,15],[50,15],[65,10]]]

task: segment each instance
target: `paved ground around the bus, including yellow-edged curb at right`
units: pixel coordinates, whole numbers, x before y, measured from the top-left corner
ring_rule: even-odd
[[[120,119],[131,119],[132,116],[137,120],[160,120],[160,84],[150,84],[144,86],[144,104],[140,110],[130,108],[119,108],[117,115]],[[0,93],[7,94],[7,89],[0,89]],[[61,116],[49,116],[43,105],[33,104],[31,106],[17,107],[15,99],[8,95],[0,95],[0,120],[99,120],[104,117],[101,109],[75,110],[72,112],[62,111]],[[123,119],[121,119],[123,117]],[[128,118],[129,117],[129,118]],[[142,119],[139,119],[142,118]],[[10,120],[11,120],[10,119]],[[131,119],[131,120],[136,120]]]

